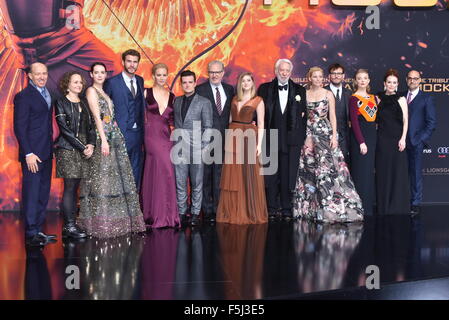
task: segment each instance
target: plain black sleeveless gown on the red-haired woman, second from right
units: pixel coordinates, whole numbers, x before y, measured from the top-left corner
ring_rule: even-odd
[[[410,213],[407,152],[399,151],[403,115],[399,95],[380,94],[377,113],[376,204],[378,214]]]

